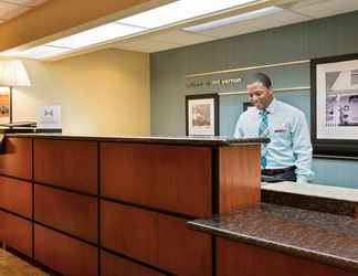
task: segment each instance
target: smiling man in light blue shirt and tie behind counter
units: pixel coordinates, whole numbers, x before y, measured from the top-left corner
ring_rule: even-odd
[[[235,138],[267,137],[261,148],[263,176],[306,182],[313,174],[312,145],[303,112],[275,99],[271,79],[257,73],[248,82],[254,108],[244,112],[235,127]]]

